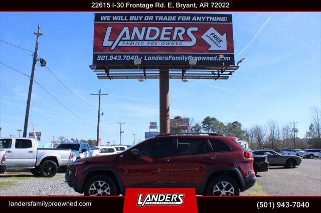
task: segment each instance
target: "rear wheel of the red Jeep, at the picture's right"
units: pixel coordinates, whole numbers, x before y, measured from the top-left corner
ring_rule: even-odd
[[[206,195],[210,196],[239,196],[240,187],[229,176],[218,176],[212,179],[206,188]]]

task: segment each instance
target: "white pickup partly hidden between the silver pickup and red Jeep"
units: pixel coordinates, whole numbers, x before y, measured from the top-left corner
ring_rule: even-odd
[[[80,159],[83,157],[99,155],[98,150],[91,150],[88,143],[84,143],[84,142],[64,142],[64,143],[60,143],[57,146],[57,148],[71,149],[73,153],[71,161],[75,161],[76,159]]]

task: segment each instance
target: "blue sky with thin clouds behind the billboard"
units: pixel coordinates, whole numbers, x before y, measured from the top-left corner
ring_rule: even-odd
[[[244,128],[265,125],[271,119],[279,126],[297,121],[298,136],[303,137],[311,120],[310,107],[320,107],[321,102],[320,14],[232,13],[236,61],[246,59],[228,80],[171,80],[171,118],[181,115],[201,122],[205,116],[215,116],[225,123],[238,120]],[[144,138],[149,121],[159,123],[158,80],[98,80],[88,67],[92,63],[92,12],[2,12],[0,39],[34,50],[38,23],[44,33],[38,55],[73,92],[94,105],[98,97],[91,92],[101,88],[109,93],[101,101],[102,143],[119,141],[118,121],[125,122],[122,141],[128,144],[133,133],[136,141]],[[0,61],[31,73],[31,52],[0,42]],[[1,134],[18,135],[16,129],[24,127],[29,78],[1,64],[0,77]],[[90,125],[34,84],[28,131],[33,123],[45,140],[61,135],[96,138],[97,108],[73,96],[44,67],[36,66],[35,80]]]

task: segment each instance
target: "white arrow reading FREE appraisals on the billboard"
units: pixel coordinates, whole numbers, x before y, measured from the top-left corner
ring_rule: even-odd
[[[202,38],[210,44],[209,50],[227,50],[226,33],[221,35],[211,27],[202,35]]]

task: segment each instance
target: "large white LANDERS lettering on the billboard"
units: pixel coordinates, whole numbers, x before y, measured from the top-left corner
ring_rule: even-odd
[[[184,28],[181,26],[143,26],[141,29],[134,26],[130,29],[124,26],[117,38],[110,39],[112,26],[106,29],[103,46],[110,46],[110,50],[117,46],[194,46],[197,38],[193,32],[198,31],[198,27]],[[184,38],[187,36],[187,39]],[[186,37],[185,36],[185,37]]]

